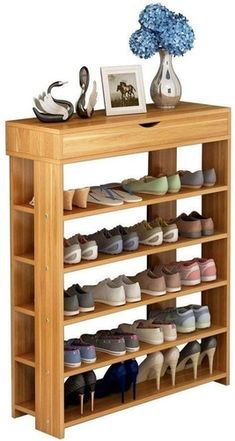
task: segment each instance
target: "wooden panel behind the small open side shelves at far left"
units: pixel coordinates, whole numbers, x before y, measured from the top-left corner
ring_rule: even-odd
[[[34,320],[15,313],[15,306],[33,302],[34,271],[23,263],[15,261],[18,253],[32,249],[33,217],[14,210],[15,203],[24,203],[32,197],[33,163],[30,160],[10,159],[11,187],[11,338],[12,338],[12,416],[23,415],[15,406],[34,397],[34,370],[27,378],[27,369],[15,362],[16,355],[32,352],[34,349]],[[22,386],[21,386],[22,385]]]

